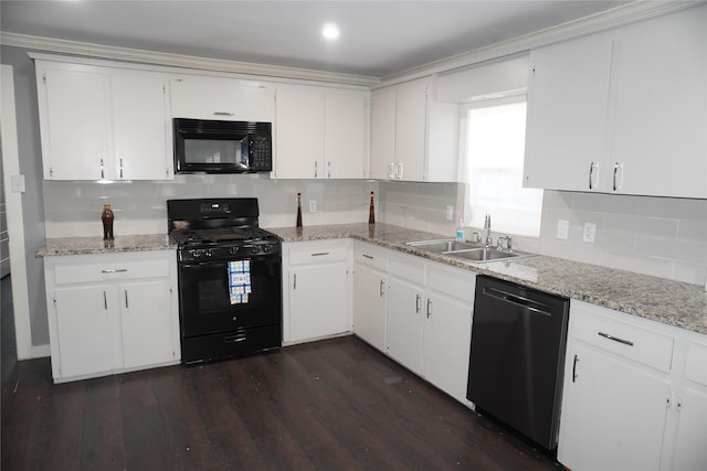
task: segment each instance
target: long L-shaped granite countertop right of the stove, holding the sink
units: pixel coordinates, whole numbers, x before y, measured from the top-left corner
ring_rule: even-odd
[[[513,260],[473,264],[405,245],[411,240],[449,236],[387,224],[334,224],[268,228],[284,242],[355,238],[422,256],[479,275],[514,281],[555,295],[579,299],[630,314],[707,334],[707,292],[704,287],[563,258],[536,255]]]

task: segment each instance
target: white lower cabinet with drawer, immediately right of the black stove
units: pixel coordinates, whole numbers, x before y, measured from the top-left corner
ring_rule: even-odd
[[[285,342],[350,331],[349,253],[348,240],[283,245]]]

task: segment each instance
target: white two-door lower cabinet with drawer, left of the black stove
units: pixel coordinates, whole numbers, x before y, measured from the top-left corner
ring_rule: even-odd
[[[172,250],[46,257],[54,382],[178,363],[176,264]]]

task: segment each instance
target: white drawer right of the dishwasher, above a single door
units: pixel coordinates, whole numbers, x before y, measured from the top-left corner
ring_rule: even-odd
[[[672,336],[585,309],[573,309],[570,315],[574,315],[572,336],[576,339],[662,372],[671,371]]]

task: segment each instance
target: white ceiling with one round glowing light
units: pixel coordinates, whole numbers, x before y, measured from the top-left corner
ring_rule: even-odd
[[[0,30],[381,78],[626,3],[2,0]],[[325,22],[338,41],[321,39]]]

